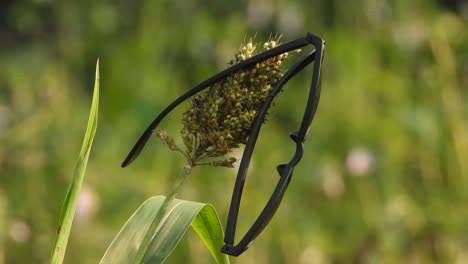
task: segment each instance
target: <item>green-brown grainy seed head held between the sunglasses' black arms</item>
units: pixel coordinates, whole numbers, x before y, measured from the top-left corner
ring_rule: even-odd
[[[263,48],[274,48],[277,41],[270,40]],[[242,44],[232,63],[252,57],[255,49],[252,40]],[[192,98],[183,114],[181,131],[191,163],[222,157],[246,144],[257,112],[283,76],[281,66],[287,56],[284,53],[239,70]],[[229,158],[216,164],[229,167],[233,162],[235,159]]]

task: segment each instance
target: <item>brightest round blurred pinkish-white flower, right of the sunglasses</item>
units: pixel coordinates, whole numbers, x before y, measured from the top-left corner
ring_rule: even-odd
[[[374,166],[374,155],[365,147],[351,149],[346,157],[346,168],[352,176],[365,176],[372,172]]]

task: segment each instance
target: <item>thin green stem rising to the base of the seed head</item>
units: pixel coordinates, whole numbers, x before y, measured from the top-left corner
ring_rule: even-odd
[[[141,241],[140,247],[138,248],[137,254],[135,255],[135,260],[133,263],[140,264],[143,262],[143,257],[145,256],[145,253],[148,250],[148,247],[151,243],[151,240],[153,239],[156,230],[158,229],[159,225],[162,224],[161,221],[166,215],[167,209],[169,209],[169,207],[172,205],[172,202],[174,201],[175,196],[179,192],[180,187],[184,183],[185,178],[187,178],[191,171],[192,166],[187,164],[184,166],[184,169],[180,172],[179,177],[176,179],[174,185],[172,185],[172,189],[166,195],[166,199],[164,199],[163,203],[161,204],[161,207],[159,208],[159,211],[156,213],[156,216],[153,219],[153,222],[146,231],[146,234],[143,237],[143,240]]]

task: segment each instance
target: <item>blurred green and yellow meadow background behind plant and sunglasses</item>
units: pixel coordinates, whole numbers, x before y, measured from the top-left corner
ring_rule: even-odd
[[[467,20],[455,0],[2,1],[0,263],[49,260],[98,57],[98,131],[65,263],[97,263],[169,190],[183,160],[156,139],[120,168],[156,114],[244,39],[277,32],[327,41],[322,96],[282,205],[232,263],[468,263]],[[294,150],[309,83],[304,71],[285,87],[263,130],[237,239]],[[182,110],[162,125],[175,137]],[[213,204],[224,225],[234,179],[196,168],[179,198]],[[167,263],[213,261],[189,230]]]

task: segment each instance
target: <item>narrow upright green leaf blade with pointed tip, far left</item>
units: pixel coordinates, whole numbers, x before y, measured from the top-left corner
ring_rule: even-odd
[[[96,63],[96,78],[94,82],[94,94],[91,102],[88,126],[81,146],[78,162],[73,171],[72,182],[65,196],[65,202],[60,213],[57,237],[55,238],[54,249],[50,263],[62,263],[67,248],[68,237],[75,216],[75,209],[78,203],[81,184],[83,183],[86,165],[88,164],[89,153],[96,133],[99,106],[99,60]]]

